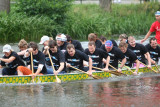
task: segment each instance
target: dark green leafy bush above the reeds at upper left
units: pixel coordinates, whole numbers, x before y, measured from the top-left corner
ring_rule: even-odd
[[[17,0],[17,12],[28,16],[48,16],[57,23],[63,23],[73,0]]]

